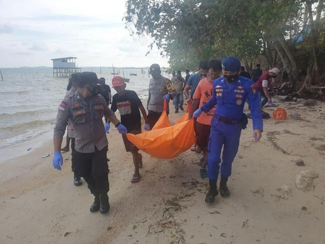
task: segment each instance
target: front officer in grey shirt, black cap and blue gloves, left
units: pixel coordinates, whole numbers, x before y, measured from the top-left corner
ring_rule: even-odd
[[[105,115],[121,134],[127,132],[118,121],[105,99],[97,95],[98,78],[93,72],[78,75],[78,89],[73,96],[64,99],[58,108],[54,128],[54,168],[61,170],[63,164],[60,146],[68,120],[75,133],[75,149],[81,176],[86,180],[90,192],[95,196],[90,211],[109,211],[108,166],[106,162],[107,137],[102,117]]]

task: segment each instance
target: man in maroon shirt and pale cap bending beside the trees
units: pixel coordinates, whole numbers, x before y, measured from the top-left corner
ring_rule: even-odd
[[[264,72],[258,80],[255,82],[255,87],[259,96],[259,100],[264,97],[261,102],[261,109],[266,103],[272,103],[271,96],[268,92],[268,87],[272,88],[271,79],[275,78],[280,73],[278,68],[273,68],[272,70]]]

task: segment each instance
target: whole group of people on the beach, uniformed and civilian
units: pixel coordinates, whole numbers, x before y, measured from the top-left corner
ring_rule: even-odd
[[[145,121],[144,130],[151,130],[163,113],[164,101],[169,103],[173,100],[175,113],[179,109],[183,111],[184,97],[190,104],[188,119],[194,119],[197,138],[191,150],[197,153],[202,151],[200,175],[209,179],[210,188],[205,201],[213,203],[218,195],[219,168],[220,195],[229,197],[227,181],[238,151],[241,130],[248,123],[243,113],[244,104],[246,101],[249,104],[253,138],[258,141],[263,132],[262,107],[272,103],[268,88],[272,89],[271,80],[278,75],[279,69],[273,68],[262,73],[260,66],[256,65],[249,74],[237,57],[229,56],[222,62],[217,59],[202,60],[199,72],[190,75],[189,70],[185,70],[185,79],[181,71],[174,72],[171,80],[165,78],[157,64],[151,65],[149,72],[152,78],[149,82],[147,111],[136,92],[126,89],[120,76],[112,79],[112,88],[116,90],[113,97],[105,78],[98,79],[93,72],[75,73],[69,79],[68,92],[59,105],[56,117],[53,166],[61,170],[61,151],[70,150],[71,140],[74,185],[82,185],[81,177],[87,182],[94,195],[91,212],[106,214],[110,209],[107,133],[111,124],[122,134],[125,150],[133,156],[135,171],[131,181],[139,182],[142,155],[125,134],[142,133],[141,114]],[[117,110],[121,121],[114,114]],[[66,128],[67,144],[61,148]]]

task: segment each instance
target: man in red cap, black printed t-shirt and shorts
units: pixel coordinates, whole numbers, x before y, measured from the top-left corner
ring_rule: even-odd
[[[143,115],[146,131],[150,130],[149,121],[141,100],[133,90],[126,90],[126,84],[120,76],[115,76],[112,79],[113,88],[117,94],[113,96],[111,110],[115,112],[117,109],[121,115],[121,123],[126,127],[128,133],[140,134],[141,133],[141,115]],[[130,142],[125,135],[122,135],[125,150],[131,151],[133,156],[133,163],[135,172],[131,182],[139,182],[141,175],[139,168],[142,168],[142,155],[139,154],[139,149]]]

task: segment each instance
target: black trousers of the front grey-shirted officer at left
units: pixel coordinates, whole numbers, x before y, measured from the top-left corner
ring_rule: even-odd
[[[107,150],[106,146],[100,151],[95,147],[94,153],[89,154],[76,151],[80,175],[86,180],[88,188],[94,196],[107,194],[110,189],[106,160]]]

